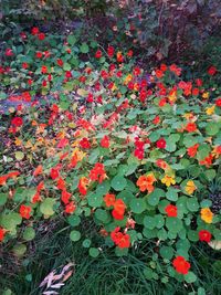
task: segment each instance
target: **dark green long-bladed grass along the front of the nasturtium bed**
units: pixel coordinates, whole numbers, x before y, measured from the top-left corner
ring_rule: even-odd
[[[164,284],[146,280],[144,270],[150,256],[150,247],[148,244],[143,244],[125,257],[117,257],[110,250],[96,259],[90,257],[81,241],[71,242],[69,228],[65,228],[65,224],[54,223],[53,228],[36,235],[27,257],[21,262],[18,260],[14,264],[14,256],[9,255],[8,259],[2,256],[0,289],[10,288],[15,295],[40,295],[39,284],[52,270],[74,262],[74,274],[61,288],[61,295],[197,294],[189,293],[197,291],[194,286],[190,285],[187,288],[176,281]],[[199,286],[206,288],[206,294],[221,294],[219,253],[211,254],[208,246],[193,246],[190,261],[193,271],[200,277]]]

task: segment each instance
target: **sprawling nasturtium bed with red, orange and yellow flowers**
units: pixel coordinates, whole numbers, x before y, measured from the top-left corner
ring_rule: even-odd
[[[42,222],[60,220],[92,257],[148,245],[146,280],[204,294],[190,252],[221,241],[221,96],[206,84],[219,69],[185,81],[133,55],[39,28],[4,44],[2,253],[24,257]]]

